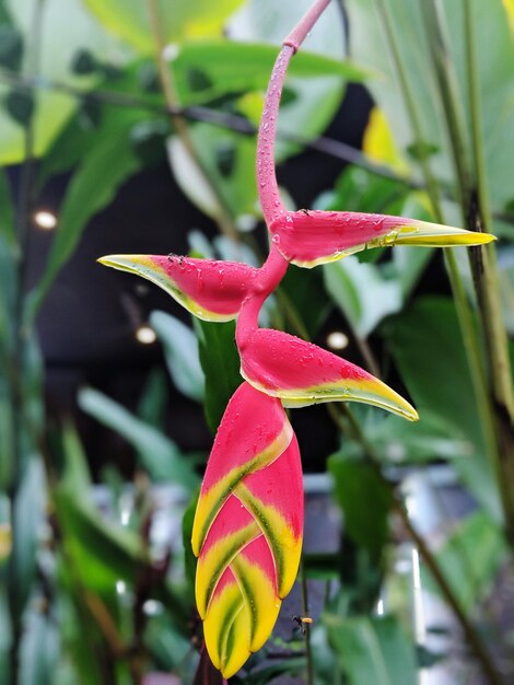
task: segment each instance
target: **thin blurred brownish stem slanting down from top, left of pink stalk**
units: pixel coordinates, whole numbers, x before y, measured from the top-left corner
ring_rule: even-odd
[[[162,22],[159,12],[157,0],[145,0],[147,1],[147,10],[150,19],[150,26],[152,30],[153,38],[155,42],[155,59],[157,62],[159,69],[159,79],[161,81],[161,86],[164,93],[164,97],[166,100],[166,105],[170,112],[176,111],[179,106],[178,93],[175,85],[175,79],[173,76],[173,67],[166,62],[164,57],[164,50],[166,48],[164,35],[162,33]],[[209,171],[206,169],[198,150],[195,147],[195,142],[189,135],[189,129],[187,127],[186,119],[179,114],[172,114],[172,121],[175,127],[176,133],[180,139],[182,144],[186,149],[192,164],[195,165],[197,172],[205,181],[211,193],[214,195],[218,201],[218,216],[217,222],[220,228],[220,231],[232,237],[235,241],[240,241],[240,234],[237,229],[234,225],[234,221],[232,219],[232,211],[227,206],[225,199],[222,197],[221,193],[219,193],[215,183],[211,178]]]

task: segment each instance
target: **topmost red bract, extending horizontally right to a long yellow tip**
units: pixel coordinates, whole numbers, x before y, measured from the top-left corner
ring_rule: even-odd
[[[269,227],[282,256],[302,267],[340,259],[366,247],[482,245],[495,237],[405,217],[352,211],[300,210],[279,214]]]

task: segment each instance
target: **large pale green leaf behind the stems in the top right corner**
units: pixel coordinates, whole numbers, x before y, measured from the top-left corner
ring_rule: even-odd
[[[512,197],[509,178],[510,151],[514,146],[514,81],[510,65],[514,62],[514,40],[510,32],[505,3],[484,3],[470,0],[475,34],[475,53],[478,56],[478,98],[480,107],[479,131],[486,162],[486,184],[491,205],[501,209]],[[349,22],[352,27],[352,55],[359,63],[383,72],[381,79],[371,81],[369,88],[374,101],[384,111],[395,141],[404,150],[439,150],[431,156],[431,166],[436,176],[453,183],[454,169],[451,162],[449,141],[446,136],[444,114],[439,98],[435,76],[431,68],[429,40],[424,31],[421,3],[410,0],[389,0],[387,12],[398,48],[399,59],[414,102],[420,121],[422,140],[414,140],[412,127],[406,112],[394,60],[382,25],[381,14],[374,0],[348,2]],[[453,62],[454,86],[457,106],[464,124],[464,140],[470,154],[470,118],[468,106],[468,80],[464,35],[464,5],[458,2],[441,4],[441,19],[449,36],[446,63]],[[494,40],[491,40],[494,36]],[[385,58],[386,57],[386,58]]]

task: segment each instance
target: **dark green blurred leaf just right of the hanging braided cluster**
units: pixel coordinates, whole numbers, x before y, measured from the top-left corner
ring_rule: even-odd
[[[374,467],[361,460],[334,454],[328,469],[335,480],[336,501],[343,512],[344,532],[379,565],[389,530],[390,490]]]

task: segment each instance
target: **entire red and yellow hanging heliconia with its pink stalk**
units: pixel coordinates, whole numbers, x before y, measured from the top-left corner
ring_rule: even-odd
[[[445,247],[493,240],[400,217],[285,210],[273,162],[282,85],[292,56],[328,2],[315,1],[284,40],[266,94],[257,184],[271,246],[262,267],[176,255],[100,259],[153,281],[200,318],[237,317],[236,344],[245,382],[230,400],[218,430],[192,532],[198,611],[207,649],[224,677],[233,675],[269,637],[300,562],[300,454],[283,406],[353,400],[418,419],[407,400],[363,369],[294,336],[259,328],[265,300],[290,262],[312,267],[366,246]]]

